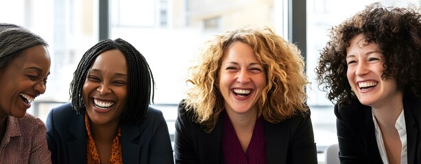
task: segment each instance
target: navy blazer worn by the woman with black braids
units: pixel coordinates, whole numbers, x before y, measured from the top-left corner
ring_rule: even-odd
[[[53,163],[86,163],[84,113],[71,102],[51,109],[47,116],[47,143]],[[163,113],[149,107],[139,126],[121,126],[123,163],[173,163],[173,151]]]

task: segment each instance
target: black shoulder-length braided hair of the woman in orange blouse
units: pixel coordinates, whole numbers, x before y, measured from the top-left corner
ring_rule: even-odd
[[[120,38],[102,40],[84,53],[70,84],[72,107],[77,113],[86,111],[82,98],[86,74],[101,53],[112,49],[118,49],[124,54],[128,66],[128,100],[121,114],[120,123],[139,125],[145,118],[150,102],[154,100],[154,76],[145,57],[132,44]]]

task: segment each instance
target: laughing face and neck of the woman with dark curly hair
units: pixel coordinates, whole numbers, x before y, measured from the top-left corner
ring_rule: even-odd
[[[363,105],[380,107],[401,100],[396,80],[382,79],[383,53],[374,42],[366,42],[359,34],[350,40],[346,49],[347,77],[353,92]]]

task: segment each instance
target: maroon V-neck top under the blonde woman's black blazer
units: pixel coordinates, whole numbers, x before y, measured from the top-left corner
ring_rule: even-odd
[[[245,153],[243,152],[243,148],[241,148],[240,141],[228,115],[225,117],[223,128],[222,149],[225,163],[267,163],[266,139],[263,129],[263,119],[261,117],[256,120],[252,139],[250,139]]]

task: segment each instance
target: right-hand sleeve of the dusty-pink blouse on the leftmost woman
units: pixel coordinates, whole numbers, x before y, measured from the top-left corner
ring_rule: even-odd
[[[44,122],[37,118],[29,163],[51,163],[51,154],[48,150],[47,141],[45,140],[45,133]]]

